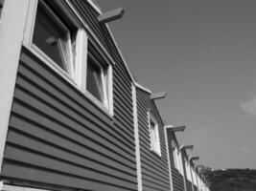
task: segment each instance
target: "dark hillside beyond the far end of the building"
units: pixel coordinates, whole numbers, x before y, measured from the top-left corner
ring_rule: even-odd
[[[256,170],[208,170],[204,174],[211,191],[256,191]]]

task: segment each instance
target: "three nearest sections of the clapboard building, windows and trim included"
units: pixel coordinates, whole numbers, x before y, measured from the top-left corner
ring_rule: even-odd
[[[0,5],[0,190],[185,190],[174,132],[107,27],[124,11]]]

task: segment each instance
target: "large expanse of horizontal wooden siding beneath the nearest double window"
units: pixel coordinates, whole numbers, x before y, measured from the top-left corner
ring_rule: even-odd
[[[136,190],[131,84],[123,75],[116,66],[115,116],[110,118],[23,49],[2,179],[83,190]]]

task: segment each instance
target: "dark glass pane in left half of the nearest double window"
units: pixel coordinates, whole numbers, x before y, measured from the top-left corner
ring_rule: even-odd
[[[67,61],[67,58],[65,58],[66,48],[64,45],[67,32],[58,26],[58,21],[49,15],[39,3],[35,18],[33,43],[53,59],[60,68],[67,71],[65,67],[65,61]]]

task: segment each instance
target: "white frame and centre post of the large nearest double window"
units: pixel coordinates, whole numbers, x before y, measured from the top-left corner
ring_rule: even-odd
[[[76,58],[75,58],[75,66],[76,68],[71,68],[70,74],[66,73],[64,70],[62,70],[58,64],[56,64],[49,56],[47,56],[45,53],[43,53],[39,48],[35,46],[33,43],[33,33],[35,28],[35,16],[36,16],[36,9],[38,5],[38,1],[40,0],[30,0],[29,3],[29,11],[27,14],[27,21],[26,21],[26,28],[25,33],[23,37],[23,45],[30,50],[31,53],[35,54],[36,57],[38,57],[43,63],[48,65],[51,69],[53,69],[56,73],[58,73],[61,77],[63,77],[66,81],[68,81],[71,85],[76,87],[81,94],[86,96],[90,101],[92,101],[98,108],[100,108],[108,117],[114,116],[114,108],[113,108],[113,69],[112,64],[115,64],[111,56],[106,53],[105,48],[100,43],[100,41],[97,39],[96,35],[91,32],[91,30],[88,30],[88,26],[84,24],[84,21],[81,19],[81,16],[78,14],[78,12],[75,11],[75,9],[72,7],[72,5],[69,3],[68,0],[65,0],[65,3],[67,3],[67,6],[71,9],[72,14],[75,14],[76,18],[74,18],[73,15],[70,15],[68,11],[65,11],[66,16],[68,19],[71,20],[71,22],[76,26],[78,30],[77,38],[84,39],[84,40],[76,40]],[[61,6],[61,3],[59,3],[59,7]],[[86,32],[85,32],[86,30]],[[99,54],[101,54],[105,61],[106,59],[110,60],[106,61],[106,64],[108,65],[107,69],[107,76],[108,76],[108,106],[106,107],[104,103],[99,101],[96,97],[92,96],[88,91],[86,91],[85,82],[86,82],[86,67],[87,64],[87,53],[88,53],[88,35],[87,32],[90,32],[92,34],[94,40],[96,41],[97,45],[95,43],[92,43],[96,47],[100,47],[101,50],[99,51]],[[85,40],[86,39],[86,40]],[[81,51],[82,50],[82,51]],[[103,51],[104,53],[101,53]],[[107,58],[105,58],[105,55]],[[70,67],[74,67],[73,64],[70,64]],[[106,89],[106,88],[105,88]]]

